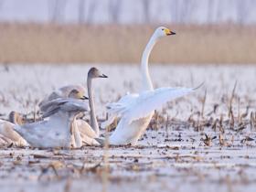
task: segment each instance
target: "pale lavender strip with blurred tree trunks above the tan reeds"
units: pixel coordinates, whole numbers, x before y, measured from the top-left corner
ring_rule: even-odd
[[[256,24],[255,0],[0,0],[0,21]]]

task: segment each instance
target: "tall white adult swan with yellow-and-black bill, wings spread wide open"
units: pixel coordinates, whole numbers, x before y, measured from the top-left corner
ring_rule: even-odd
[[[165,36],[176,35],[166,27],[158,27],[150,38],[141,60],[142,89],[137,94],[128,94],[119,101],[108,104],[107,111],[111,118],[107,123],[112,123],[115,118],[120,118],[116,129],[109,137],[109,144],[137,144],[138,139],[146,130],[155,110],[160,109],[165,102],[187,95],[197,88],[159,88],[154,89],[148,70],[148,59],[155,43]],[[103,144],[102,138],[96,139]]]

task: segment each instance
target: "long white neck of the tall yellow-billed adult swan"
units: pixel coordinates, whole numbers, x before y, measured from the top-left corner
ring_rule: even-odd
[[[148,71],[148,59],[149,55],[152,51],[152,49],[155,46],[155,43],[157,42],[157,37],[155,37],[155,34],[150,38],[149,42],[147,43],[146,47],[144,48],[144,53],[142,57],[142,63],[141,63],[141,70],[143,75],[143,87],[142,91],[153,91],[154,87],[149,75]]]

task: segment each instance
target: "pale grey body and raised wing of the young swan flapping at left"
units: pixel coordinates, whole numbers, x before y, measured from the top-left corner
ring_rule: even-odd
[[[33,147],[70,147],[71,124],[79,112],[88,112],[88,103],[72,98],[59,98],[41,106],[44,120],[12,128]],[[0,127],[1,128],[1,127]],[[2,133],[5,127],[0,130]]]

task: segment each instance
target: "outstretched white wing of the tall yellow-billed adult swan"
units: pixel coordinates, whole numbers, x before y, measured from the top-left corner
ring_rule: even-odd
[[[155,91],[144,91],[122,111],[123,118],[129,123],[148,116],[151,112],[161,109],[167,101],[185,96],[193,92],[193,88],[159,88]]]

